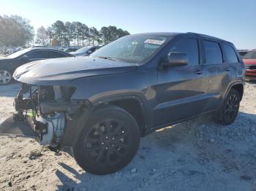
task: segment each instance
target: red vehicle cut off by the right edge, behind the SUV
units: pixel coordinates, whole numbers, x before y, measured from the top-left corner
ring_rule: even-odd
[[[246,66],[245,78],[256,79],[256,50],[247,52],[243,61]]]

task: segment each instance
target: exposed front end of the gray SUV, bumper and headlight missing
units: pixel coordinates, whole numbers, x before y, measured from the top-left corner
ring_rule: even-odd
[[[39,144],[58,148],[67,120],[82,106],[70,98],[75,87],[22,85],[15,98],[15,121],[28,122]]]

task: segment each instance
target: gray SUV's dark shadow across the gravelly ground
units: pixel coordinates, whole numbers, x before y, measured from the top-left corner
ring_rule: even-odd
[[[154,182],[158,182],[158,179],[161,181],[161,177],[164,176],[167,177],[165,178],[167,181],[170,181],[170,188],[167,190],[173,189],[173,185],[176,185],[176,179],[178,179],[180,186],[183,185],[182,182],[186,184],[189,182],[189,184],[191,184],[190,186],[194,187],[196,185],[202,187],[202,190],[205,190],[207,184],[210,184],[212,181],[212,176],[214,176],[215,181],[217,179],[217,182],[222,182],[222,176],[219,175],[219,171],[225,171],[227,166],[230,168],[232,164],[228,162],[229,160],[226,161],[226,159],[224,162],[222,161],[222,163],[225,164],[223,166],[220,165],[220,167],[219,165],[212,164],[212,161],[205,162],[210,164],[208,166],[201,163],[200,161],[206,160],[206,156],[201,156],[199,154],[200,151],[196,148],[199,146],[195,145],[195,141],[199,139],[197,137],[199,131],[203,128],[208,128],[211,131],[219,131],[222,129],[232,131],[241,126],[241,124],[244,124],[244,121],[248,121],[245,125],[256,125],[256,115],[239,112],[236,122],[228,126],[217,125],[213,122],[211,115],[206,115],[189,120],[188,122],[182,122],[172,127],[157,130],[151,135],[142,138],[140,149],[135,159],[132,160],[132,163],[126,168],[116,174],[97,176],[83,170],[77,171],[65,163],[59,163],[63,171],[61,168],[56,171],[56,176],[58,176],[61,181],[58,190],[104,190],[103,188],[106,189],[106,187],[108,188],[107,190],[137,190],[138,187],[142,190],[165,190],[167,188],[157,184],[154,184],[154,187],[152,187],[152,185],[146,186],[146,183],[144,182],[145,185],[143,183],[144,179],[148,179],[148,181],[154,179]],[[214,128],[212,128],[212,126]],[[208,131],[204,133],[207,132]],[[208,137],[207,135],[205,136]],[[220,136],[220,140],[221,139],[222,136]],[[204,151],[211,151],[213,150],[212,147],[218,149],[218,140],[215,144],[216,145],[208,141],[206,144],[203,143],[200,147],[203,147]],[[220,144],[223,144],[223,142]],[[246,144],[246,142],[243,144]],[[223,149],[227,149],[228,147],[229,146],[224,145]],[[241,155],[241,153],[237,154]],[[190,157],[189,160],[187,160],[187,158],[189,158],[188,156]],[[173,167],[173,163],[175,163],[176,166]],[[181,169],[180,166],[183,165],[185,167]],[[136,169],[137,172],[135,174],[132,173],[132,168]],[[208,175],[209,171],[211,171],[210,175]],[[217,174],[213,174],[212,172],[214,171],[216,171]],[[237,171],[237,169],[234,171]],[[230,182],[228,182],[228,184],[223,182],[221,186],[224,186],[227,190],[232,190],[235,185],[232,183],[232,177],[232,174],[228,175]],[[190,182],[190,180],[192,181]],[[204,183],[202,183],[202,181]],[[219,183],[217,184],[217,187],[220,187]],[[241,187],[235,185],[234,187],[237,187],[235,190],[243,190],[242,188],[246,183],[241,181],[237,184],[241,185]],[[123,187],[124,185],[125,187]],[[186,190],[186,187],[183,187],[183,189]]]

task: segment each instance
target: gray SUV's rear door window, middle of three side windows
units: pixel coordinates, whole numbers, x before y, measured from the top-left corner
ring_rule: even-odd
[[[222,63],[222,50],[218,42],[203,40],[203,46],[206,52],[206,63],[218,64]]]

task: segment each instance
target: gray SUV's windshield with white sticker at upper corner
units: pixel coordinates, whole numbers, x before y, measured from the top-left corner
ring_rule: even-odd
[[[129,63],[143,63],[152,58],[167,42],[168,36],[130,35],[105,45],[92,57],[112,58]]]

